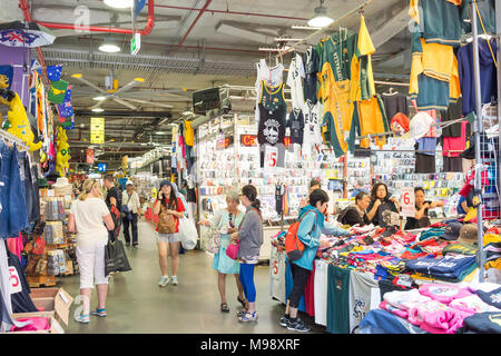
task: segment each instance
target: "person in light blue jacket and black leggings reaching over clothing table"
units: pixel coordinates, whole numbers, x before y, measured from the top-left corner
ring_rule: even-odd
[[[327,209],[328,196],[322,189],[315,189],[310,194],[310,205],[301,208],[301,224],[297,229],[297,237],[304,244],[303,256],[291,263],[291,271],[293,275],[293,289],[288,296],[285,315],[281,318],[281,325],[286,326],[289,330],[310,332],[310,328],[303,324],[297,317],[297,307],[299,299],[304,294],[306,280],[313,269],[318,247],[321,246],[322,233],[333,236],[347,236],[348,231],[336,228],[325,221],[325,211]]]

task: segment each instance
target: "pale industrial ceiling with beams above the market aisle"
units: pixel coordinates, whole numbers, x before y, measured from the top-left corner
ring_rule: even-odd
[[[17,1],[7,2],[6,11],[0,13],[0,22],[22,19]],[[333,19],[340,19],[363,2],[327,0],[324,6]],[[141,37],[141,48],[136,56],[129,52],[130,34],[51,29],[57,39],[52,46],[43,47],[42,53],[47,66],[65,66],[62,79],[72,86],[77,121],[77,129],[68,135],[72,161],[85,158],[80,154],[89,146],[89,108],[97,103],[92,97],[98,95],[96,89],[76,80],[72,75],[81,73],[82,78],[101,89],[105,89],[105,77],[110,76],[111,70],[119,87],[140,77],[145,81],[121,93],[120,98],[171,106],[165,108],[136,101],[137,110],[130,110],[112,100],[102,105],[105,112],[99,116],[106,118],[107,144],[99,160],[118,165],[122,155],[135,157],[151,149],[153,145],[148,142],[170,142],[169,125],[190,108],[193,91],[225,83],[253,86],[254,63],[261,58],[275,61],[275,53],[259,51],[259,48],[276,48],[276,37],[295,39],[311,34],[311,30],[293,30],[291,27],[306,26],[318,3],[318,0],[156,0],[155,27],[150,34]],[[131,28],[130,10],[110,9],[102,1],[31,0],[29,4],[36,21],[78,23],[82,13],[88,13],[90,26]],[[367,29],[376,47],[373,65],[380,80],[405,81],[409,77],[407,6],[406,0],[374,0],[364,10]],[[148,6],[137,19],[138,29],[146,26],[147,10]],[[358,22],[355,12],[338,24],[356,31]],[[320,38],[337,29],[337,24],[333,26],[305,44],[316,44]],[[121,46],[119,53],[98,50],[109,36]],[[297,49],[304,48],[299,46]],[[36,51],[33,56],[37,56]],[[283,58],[285,67],[291,55]],[[154,134],[157,131],[168,134]],[[138,137],[140,132],[145,134]]]

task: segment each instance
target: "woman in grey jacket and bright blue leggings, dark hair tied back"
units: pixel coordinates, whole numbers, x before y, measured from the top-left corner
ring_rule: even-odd
[[[252,185],[242,188],[239,195],[242,205],[246,208],[244,220],[238,231],[230,238],[236,244],[239,240],[238,259],[240,260],[239,279],[247,298],[246,306],[238,313],[238,320],[243,323],[257,320],[256,287],[254,285],[254,268],[259,259],[263,245],[263,217],[257,189]]]

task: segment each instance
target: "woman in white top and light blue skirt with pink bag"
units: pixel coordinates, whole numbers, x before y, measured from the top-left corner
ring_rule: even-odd
[[[242,224],[244,212],[238,209],[238,191],[229,191],[226,195],[226,209],[216,211],[214,217],[208,220],[202,220],[199,224],[212,226],[220,235],[219,250],[214,255],[213,268],[217,270],[217,287],[220,294],[220,312],[229,313],[226,300],[226,275],[234,275],[238,289],[237,300],[245,307],[244,289],[239,280],[239,264],[237,260],[226,255],[226,248],[229,246],[229,235],[235,233]]]

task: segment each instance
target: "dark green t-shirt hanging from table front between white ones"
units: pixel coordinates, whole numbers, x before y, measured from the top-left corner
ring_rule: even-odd
[[[328,265],[327,332],[350,334],[350,269]]]

